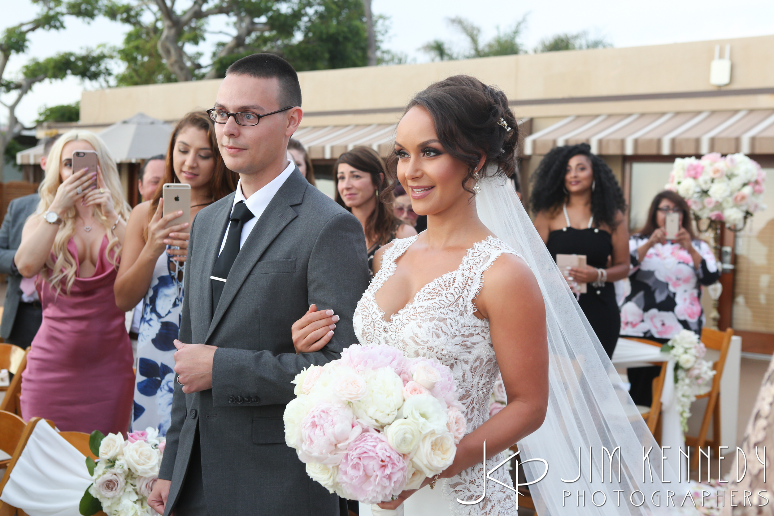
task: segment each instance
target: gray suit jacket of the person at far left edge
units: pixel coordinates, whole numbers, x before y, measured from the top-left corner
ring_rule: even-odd
[[[0,274],[8,275],[8,289],[5,290],[3,305],[5,309],[3,309],[2,324],[0,324],[0,337],[4,339],[11,334],[13,321],[16,319],[16,309],[19,308],[19,301],[22,299],[22,289],[19,289],[22,275],[12,267],[13,257],[19,244],[22,243],[24,223],[27,217],[35,213],[39,202],[40,197],[37,193],[12,200],[0,226]]]

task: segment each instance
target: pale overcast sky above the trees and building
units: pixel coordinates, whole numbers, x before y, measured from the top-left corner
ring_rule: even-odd
[[[494,36],[497,26],[507,29],[527,15],[523,42],[529,49],[543,38],[558,32],[587,30],[592,36],[603,36],[614,46],[642,46],[661,43],[699,41],[703,39],[762,36],[774,32],[772,0],[554,0],[553,2],[519,2],[516,0],[372,0],[375,14],[389,17],[390,32],[385,47],[406,53],[409,60],[422,63],[428,56],[418,49],[432,39],[444,39],[457,48],[464,39],[448,25],[447,19],[463,16],[483,30],[483,39]],[[5,2],[0,29],[15,25],[35,14],[28,0]],[[211,29],[224,29],[223,20],[214,20]],[[120,45],[125,26],[98,20],[91,25],[69,19],[67,29],[59,32],[35,32],[24,56],[15,56],[5,77],[30,57],[43,58],[64,50],[80,50],[99,43]],[[205,56],[217,38],[212,36],[200,47]],[[732,50],[733,53],[733,50]],[[731,56],[733,59],[733,55]],[[17,116],[31,125],[43,105],[69,104],[80,99],[80,91],[96,88],[68,79],[53,84],[37,84],[17,108]],[[9,101],[9,96],[2,100]],[[5,123],[5,110],[0,123]],[[152,113],[148,113],[152,115]]]

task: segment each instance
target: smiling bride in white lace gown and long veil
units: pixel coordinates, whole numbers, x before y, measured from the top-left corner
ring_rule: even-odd
[[[438,477],[378,507],[360,504],[360,514],[516,514],[517,495],[505,466],[491,473],[497,481],[485,482],[515,443],[522,460],[543,459],[549,465],[550,474],[543,463],[524,465],[527,479],[536,482],[530,489],[539,514],[655,514],[659,509],[642,477],[641,447],[657,450],[656,442],[619,381],[611,382],[617,377],[607,354],[506,185],[505,178],[515,172],[518,140],[505,94],[463,75],[417,94],[398,125],[392,183],[397,179],[410,193],[414,211],[427,215],[427,229],[377,252],[374,278],[354,313],[354,330],[364,345],[384,343],[406,356],[435,357],[449,366],[467,434],[454,463]],[[324,347],[335,321],[330,310],[310,307],[293,325],[296,351]],[[490,418],[498,373],[508,405]],[[579,475],[570,484],[560,481],[575,477],[579,446],[597,448],[596,453],[602,446],[621,446],[622,480],[592,486],[594,471],[597,479],[600,474],[592,464],[591,480]],[[668,465],[661,470],[659,460],[651,467],[653,477],[673,477]],[[616,506],[616,488],[624,497],[640,490],[647,500],[639,507]],[[591,503],[594,490],[606,498],[601,507],[599,494]],[[573,497],[563,497],[570,491]],[[575,503],[575,491],[585,492],[582,505]],[[634,496],[639,504],[639,494]]]

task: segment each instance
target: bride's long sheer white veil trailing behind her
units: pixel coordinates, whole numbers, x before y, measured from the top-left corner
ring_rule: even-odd
[[[678,483],[676,465],[661,460],[659,445],[515,191],[503,178],[481,179],[480,186],[478,217],[526,259],[546,303],[548,410],[543,425],[518,443],[522,461],[539,458],[548,463],[543,480],[529,486],[538,514],[697,514],[690,500],[681,510],[688,484]],[[614,456],[612,482],[603,447]],[[651,447],[649,460],[643,460]],[[567,482],[579,476],[579,450],[580,477]],[[524,464],[528,482],[545,470],[539,461]]]

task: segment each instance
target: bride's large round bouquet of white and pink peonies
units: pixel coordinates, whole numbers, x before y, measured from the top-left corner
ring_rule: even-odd
[[[454,460],[467,422],[449,367],[354,344],[296,375],[285,440],[330,493],[365,504],[418,489]]]

